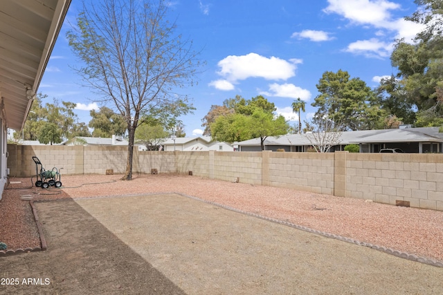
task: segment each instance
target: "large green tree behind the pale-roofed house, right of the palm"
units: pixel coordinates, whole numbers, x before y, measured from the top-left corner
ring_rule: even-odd
[[[311,104],[318,108],[314,120],[327,118],[335,126],[354,131],[377,129],[382,125],[380,118],[384,112],[377,104],[377,96],[361,79],[351,79],[343,70],[327,71],[316,87],[320,95]]]

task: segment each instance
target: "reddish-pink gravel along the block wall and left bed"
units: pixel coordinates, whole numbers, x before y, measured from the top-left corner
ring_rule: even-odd
[[[295,225],[352,238],[408,254],[443,261],[443,212],[395,207],[365,200],[306,191],[209,180],[188,175],[75,175],[62,178],[60,189],[30,187],[29,178],[13,178],[0,201],[0,242],[8,249],[39,247],[28,202],[33,200],[93,198],[98,196],[182,193],[242,211],[284,220]],[[28,189],[18,188],[28,187]]]

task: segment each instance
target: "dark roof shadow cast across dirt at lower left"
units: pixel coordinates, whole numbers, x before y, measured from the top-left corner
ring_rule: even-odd
[[[18,279],[1,294],[184,294],[74,200],[35,206],[48,250],[0,258],[0,278]]]

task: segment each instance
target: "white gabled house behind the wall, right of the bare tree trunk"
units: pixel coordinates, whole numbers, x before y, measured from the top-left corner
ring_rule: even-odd
[[[234,151],[226,142],[211,142],[210,136],[168,138],[161,145],[165,151]]]

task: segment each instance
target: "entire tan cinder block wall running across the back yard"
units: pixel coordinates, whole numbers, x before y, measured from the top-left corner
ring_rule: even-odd
[[[10,176],[36,174],[33,156],[62,175],[124,173],[125,146],[8,144]],[[443,211],[443,154],[136,151],[133,173],[183,173]]]

